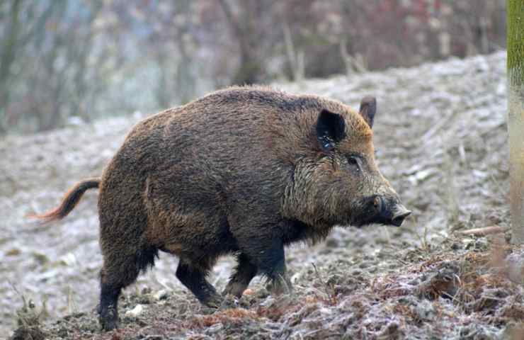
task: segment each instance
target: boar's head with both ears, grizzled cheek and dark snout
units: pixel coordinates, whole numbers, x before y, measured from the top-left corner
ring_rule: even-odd
[[[309,130],[314,153],[295,164],[285,210],[308,225],[378,223],[400,226],[410,215],[375,164],[372,125],[377,103],[365,97],[356,113],[346,106],[322,108]]]

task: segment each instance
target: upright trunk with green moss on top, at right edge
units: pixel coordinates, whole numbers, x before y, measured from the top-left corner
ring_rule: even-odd
[[[511,223],[513,241],[524,244],[524,1],[506,4]]]

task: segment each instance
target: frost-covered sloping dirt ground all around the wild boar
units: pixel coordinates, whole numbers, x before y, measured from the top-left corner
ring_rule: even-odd
[[[377,97],[377,160],[414,211],[402,227],[338,227],[325,242],[292,246],[292,295],[273,297],[254,280],[217,312],[198,304],[174,278],[177,260],[161,254],[125,290],[122,328],[103,334],[95,313],[96,192],[55,225],[25,216],[99,175],[142,116],[7,137],[0,142],[0,334],[13,335],[18,320],[13,339],[520,339],[520,249],[508,232],[459,236],[508,227],[505,54],[275,87],[355,108],[363,96]],[[215,267],[217,288],[232,266],[224,258]]]

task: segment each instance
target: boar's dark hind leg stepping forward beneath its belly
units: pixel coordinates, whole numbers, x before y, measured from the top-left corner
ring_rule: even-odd
[[[206,271],[203,268],[191,265],[190,261],[180,259],[176,268],[176,277],[191,293],[207,307],[220,307],[222,298],[215,288],[205,279]]]

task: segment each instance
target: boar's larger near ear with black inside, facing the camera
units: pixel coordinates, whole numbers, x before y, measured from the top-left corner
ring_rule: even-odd
[[[335,143],[346,136],[346,122],[341,115],[322,110],[317,120],[317,140],[325,151],[335,148]]]

